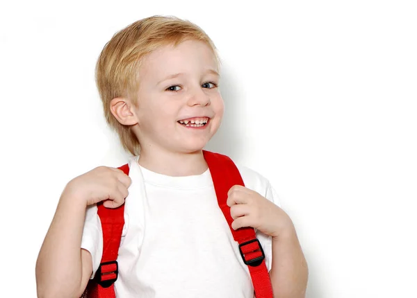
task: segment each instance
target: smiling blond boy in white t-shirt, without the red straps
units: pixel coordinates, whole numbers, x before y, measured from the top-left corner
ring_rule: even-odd
[[[202,149],[218,130],[219,62],[204,31],[174,17],[142,19],[97,62],[109,125],[135,157],[129,176],[99,167],[65,187],[38,256],[39,297],[80,297],[103,251],[97,216],[124,207],[117,297],[253,297],[247,266],[215,198]],[[233,229],[254,227],[275,297],[304,297],[306,261],[268,180],[238,167]],[[129,189],[129,191],[128,191]]]

